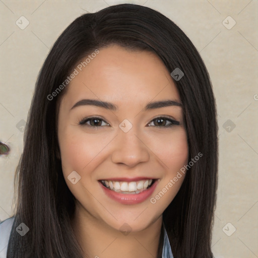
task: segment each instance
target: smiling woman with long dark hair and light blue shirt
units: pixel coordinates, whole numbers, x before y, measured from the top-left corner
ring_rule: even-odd
[[[212,86],[187,36],[138,5],[82,15],[40,71],[2,245],[8,258],[213,257],[217,163]]]

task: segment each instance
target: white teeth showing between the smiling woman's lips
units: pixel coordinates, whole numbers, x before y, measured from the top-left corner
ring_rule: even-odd
[[[157,179],[145,179],[131,182],[99,180],[99,182],[112,191],[123,193],[124,195],[134,195],[149,189],[156,180]]]

